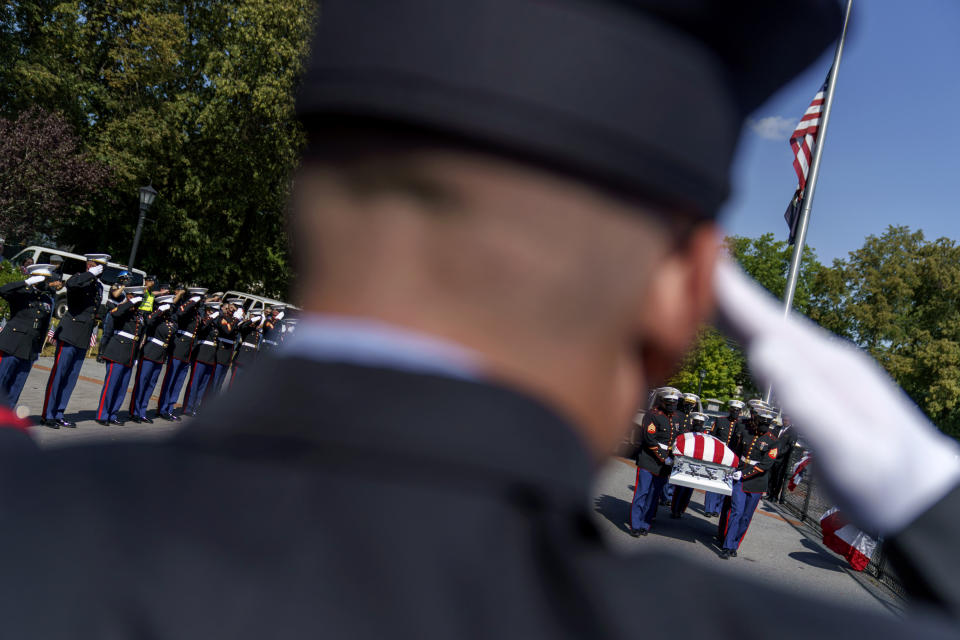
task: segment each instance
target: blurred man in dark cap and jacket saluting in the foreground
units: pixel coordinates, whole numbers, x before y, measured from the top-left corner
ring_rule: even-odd
[[[296,336],[170,445],[0,466],[8,635],[632,638],[657,602],[647,637],[951,637],[929,613],[874,618],[618,557],[588,510],[644,389],[711,312],[712,220],[746,114],[837,22],[799,0],[324,3],[298,105]],[[751,314],[723,307],[731,328],[796,401],[779,338],[805,347],[791,372],[836,349],[758,325],[764,299],[720,276]],[[910,584],[947,616],[957,578],[927,559],[956,552],[929,532],[960,470],[937,462],[882,517],[869,486],[842,497],[909,543]]]

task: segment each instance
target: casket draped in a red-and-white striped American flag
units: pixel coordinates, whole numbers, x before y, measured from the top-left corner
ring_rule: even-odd
[[[737,455],[721,440],[704,433],[681,434],[673,444],[670,484],[730,495]]]

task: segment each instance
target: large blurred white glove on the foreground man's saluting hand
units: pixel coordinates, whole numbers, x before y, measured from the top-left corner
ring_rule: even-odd
[[[960,446],[940,433],[870,357],[781,305],[727,260],[714,288],[724,329],[817,456],[844,512],[895,534],[960,483]],[[829,407],[824,411],[823,407]],[[904,479],[907,452],[923,471]]]

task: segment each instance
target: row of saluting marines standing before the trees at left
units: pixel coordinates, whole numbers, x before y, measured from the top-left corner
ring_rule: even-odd
[[[27,267],[27,278],[0,287],[10,306],[10,320],[0,331],[0,389],[16,406],[33,363],[47,337],[54,296],[66,287],[67,311],[54,331],[56,356],[44,392],[41,424],[53,429],[76,427],[64,413],[80,377],[87,351],[103,326],[98,360],[106,367],[96,420],[123,425],[120,411],[133,378],[129,419],[152,423],[148,404],[161,370],[156,415],[178,421],[174,411],[186,383],[182,413],[194,416],[201,404],[230,383],[260,352],[277,347],[293,330],[284,323],[285,307],[276,305],[244,313],[242,300],[207,297],[207,290],[177,285],[170,293],[155,276],[144,286],[114,285],[105,304],[99,276],[107,254],[86,254],[87,270],[63,282],[53,265]]]

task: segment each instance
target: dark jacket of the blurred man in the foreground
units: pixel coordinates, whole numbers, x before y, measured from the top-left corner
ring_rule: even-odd
[[[300,359],[257,366],[172,442],[2,460],[6,637],[956,637],[931,610],[868,613],[662,549],[610,550],[581,438],[524,395]],[[955,492],[893,541],[908,590],[954,623],[958,510]],[[651,602],[669,624],[638,636]]]

